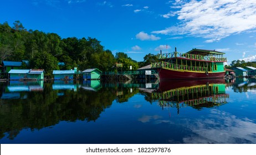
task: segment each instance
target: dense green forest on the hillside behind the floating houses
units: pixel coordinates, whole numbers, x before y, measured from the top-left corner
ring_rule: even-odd
[[[143,62],[137,62],[118,52],[114,56],[104,49],[96,38],[61,38],[55,33],[39,30],[27,30],[18,20],[11,27],[7,22],[0,23],[0,58],[8,61],[29,60],[27,69],[44,69],[45,76],[52,76],[53,70],[70,70],[78,67],[83,71],[98,68],[101,71],[116,71],[116,63],[123,64],[123,71],[137,70],[156,60],[153,54],[147,54]]]

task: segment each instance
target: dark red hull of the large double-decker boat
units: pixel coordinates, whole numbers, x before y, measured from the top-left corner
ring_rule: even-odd
[[[218,73],[199,73],[191,71],[176,71],[167,69],[157,69],[160,76],[160,80],[171,80],[171,79],[207,79],[207,78],[220,78],[224,77],[225,71]]]

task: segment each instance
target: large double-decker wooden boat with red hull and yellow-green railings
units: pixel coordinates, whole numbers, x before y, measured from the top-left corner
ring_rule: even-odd
[[[224,77],[222,52],[216,50],[192,49],[187,53],[175,52],[158,54],[158,63],[151,64],[157,68],[160,80],[170,79],[209,79]]]

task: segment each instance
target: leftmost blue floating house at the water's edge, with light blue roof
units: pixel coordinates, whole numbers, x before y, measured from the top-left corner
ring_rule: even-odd
[[[43,80],[43,69],[11,69],[9,72],[10,80]]]

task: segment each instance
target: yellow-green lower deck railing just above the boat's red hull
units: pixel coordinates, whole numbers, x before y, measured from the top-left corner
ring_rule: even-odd
[[[163,68],[163,69],[170,69],[170,70],[199,71],[199,72],[208,71],[207,67],[179,65],[179,64],[167,63],[163,61],[151,64],[151,68]]]

